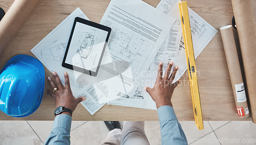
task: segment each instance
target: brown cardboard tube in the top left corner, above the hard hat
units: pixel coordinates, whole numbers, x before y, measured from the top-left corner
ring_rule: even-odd
[[[22,27],[39,0],[15,0],[0,21],[0,54]]]

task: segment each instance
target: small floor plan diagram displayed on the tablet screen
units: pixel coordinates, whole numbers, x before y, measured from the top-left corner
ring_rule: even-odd
[[[79,40],[79,49],[77,54],[81,55],[81,58],[87,59],[91,55],[93,45],[95,43],[94,39],[95,33],[82,33]]]

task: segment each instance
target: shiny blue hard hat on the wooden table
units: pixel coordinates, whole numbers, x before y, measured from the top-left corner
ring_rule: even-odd
[[[45,69],[28,55],[11,58],[0,72],[0,110],[25,117],[40,106],[45,88]]]

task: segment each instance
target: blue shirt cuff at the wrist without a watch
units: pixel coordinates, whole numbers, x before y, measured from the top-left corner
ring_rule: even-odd
[[[166,120],[177,120],[178,122],[174,108],[172,106],[161,106],[157,109],[157,113],[160,124],[166,122]]]

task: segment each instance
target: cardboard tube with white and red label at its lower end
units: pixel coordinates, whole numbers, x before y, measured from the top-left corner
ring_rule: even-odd
[[[243,85],[243,78],[238,59],[236,42],[234,41],[233,29],[231,25],[228,25],[221,27],[220,31],[226,55],[231,85],[233,89],[234,101],[236,102],[237,112],[240,117],[245,118],[249,116],[249,110],[246,101],[246,94]]]

